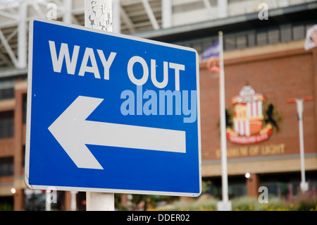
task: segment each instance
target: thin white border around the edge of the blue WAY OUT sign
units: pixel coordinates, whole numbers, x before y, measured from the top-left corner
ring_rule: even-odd
[[[30,172],[30,124],[31,124],[31,106],[32,106],[32,61],[33,61],[33,25],[34,21],[51,23],[68,28],[75,28],[78,30],[86,30],[89,32],[97,32],[103,35],[111,35],[115,37],[122,37],[125,39],[132,39],[139,42],[147,42],[150,44],[157,44],[175,49],[183,49],[187,51],[194,51],[196,54],[196,71],[197,71],[197,125],[198,125],[198,151],[199,151],[199,193],[180,193],[180,192],[167,192],[156,190],[126,190],[126,189],[109,189],[109,188],[85,188],[85,187],[67,187],[67,186],[54,186],[56,190],[75,190],[86,192],[99,192],[99,193],[125,193],[125,194],[142,194],[142,195],[170,195],[170,196],[188,196],[197,197],[201,194],[201,121],[200,121],[200,89],[199,89],[199,56],[195,49],[189,47],[182,47],[175,44],[158,42],[151,39],[144,39],[130,35],[123,35],[114,32],[106,32],[104,30],[96,30],[93,28],[86,28],[80,25],[70,23],[63,23],[57,20],[47,20],[44,18],[32,18],[29,24],[29,55],[28,55],[28,70],[27,70],[27,120],[26,120],[26,138],[25,138],[25,185],[30,189],[46,190],[52,186],[37,186],[29,183]]]

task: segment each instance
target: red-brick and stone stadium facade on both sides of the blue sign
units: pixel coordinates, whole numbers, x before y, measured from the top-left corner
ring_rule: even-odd
[[[206,64],[199,65],[201,106],[201,173],[203,178],[221,176],[218,78],[212,77]],[[298,172],[299,133],[296,104],[287,104],[290,97],[312,95],[317,99],[317,48],[305,51],[303,41],[273,44],[263,47],[225,52],[225,106],[232,107],[231,99],[244,85],[251,85],[266,97],[280,112],[280,130],[253,145],[237,145],[228,141],[228,175],[251,174],[246,179],[247,195],[256,196],[258,174]],[[14,137],[0,140],[0,157],[13,157],[14,176],[0,178],[2,196],[14,196],[15,210],[24,204],[25,123],[23,96],[25,81],[15,85],[15,99],[0,101],[0,111],[14,111]],[[317,171],[317,104],[304,102],[304,147],[306,170]],[[17,191],[11,194],[11,188]],[[70,210],[70,193],[63,197],[63,209]]]

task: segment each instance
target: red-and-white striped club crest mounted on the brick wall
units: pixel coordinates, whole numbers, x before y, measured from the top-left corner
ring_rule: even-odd
[[[226,133],[230,142],[254,144],[268,140],[279,130],[280,113],[273,104],[265,104],[266,97],[247,85],[232,98],[232,109],[226,109]]]

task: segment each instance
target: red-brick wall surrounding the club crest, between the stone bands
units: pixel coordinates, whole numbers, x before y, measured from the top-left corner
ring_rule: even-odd
[[[304,48],[225,60],[226,108],[232,109],[232,97],[248,84],[263,94],[264,105],[272,103],[282,118],[278,123],[280,130],[273,130],[264,142],[237,145],[228,141],[228,158],[299,154],[296,104],[287,104],[286,99],[316,95],[316,75],[316,50]],[[212,78],[204,65],[200,71],[200,88],[202,160],[220,159],[218,78]],[[304,102],[306,154],[317,153],[315,116],[315,102]]]

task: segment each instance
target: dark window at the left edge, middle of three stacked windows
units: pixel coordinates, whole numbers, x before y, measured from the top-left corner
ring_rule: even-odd
[[[13,111],[0,112],[0,138],[9,138],[14,135]]]

